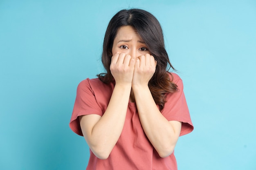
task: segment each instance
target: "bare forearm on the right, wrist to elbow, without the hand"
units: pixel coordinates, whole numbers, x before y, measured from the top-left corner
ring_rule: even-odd
[[[155,104],[148,86],[133,87],[133,92],[141,125],[148,139],[161,157],[170,155],[180,135],[179,124],[174,127],[162,115]]]

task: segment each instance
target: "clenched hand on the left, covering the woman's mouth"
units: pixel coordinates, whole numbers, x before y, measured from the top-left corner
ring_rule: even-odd
[[[116,84],[131,84],[135,68],[135,58],[125,53],[116,53],[112,56],[110,71]]]

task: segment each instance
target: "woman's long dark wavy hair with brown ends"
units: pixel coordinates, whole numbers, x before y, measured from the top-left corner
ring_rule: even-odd
[[[121,26],[132,26],[144,40],[150,54],[155,57],[157,66],[153,77],[148,82],[148,87],[153,96],[155,103],[161,111],[166,102],[166,93],[178,91],[177,85],[169,78],[169,69],[175,68],[171,65],[168,54],[164,47],[164,36],[161,25],[154,15],[142,9],[121,10],[113,16],[108,24],[103,42],[103,52],[101,61],[106,73],[97,75],[99,79],[108,84],[115,82],[110,72],[110,63],[112,56],[112,47],[117,31]]]

